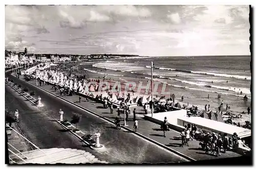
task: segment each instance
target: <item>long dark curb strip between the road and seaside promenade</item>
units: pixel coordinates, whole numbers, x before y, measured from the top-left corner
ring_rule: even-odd
[[[25,80],[22,79],[22,78],[19,78],[19,79],[25,81]],[[112,123],[112,124],[115,124],[114,121],[112,121],[112,120],[110,120],[110,119],[108,119],[108,118],[105,118],[105,117],[103,117],[103,116],[101,116],[101,115],[99,115],[99,114],[96,114],[95,112],[93,112],[93,111],[91,111],[91,110],[89,110],[89,109],[87,109],[87,108],[84,108],[84,107],[82,107],[82,106],[80,106],[80,105],[77,105],[77,104],[75,104],[75,103],[73,103],[73,102],[71,102],[71,101],[69,101],[69,100],[67,100],[67,99],[65,99],[65,98],[62,98],[62,97],[60,97],[60,96],[57,96],[56,94],[51,93],[51,92],[49,92],[49,91],[47,91],[47,90],[45,90],[45,89],[42,89],[42,88],[40,88],[40,87],[34,85],[34,84],[31,83],[31,82],[28,82],[28,81],[25,81],[25,82],[29,83],[30,85],[32,85],[32,86],[34,86],[34,87],[37,87],[37,88],[41,89],[42,91],[45,91],[45,92],[47,92],[47,93],[49,93],[49,94],[52,94],[52,95],[54,95],[55,97],[57,97],[57,98],[59,98],[59,99],[65,100],[66,102],[69,102],[69,103],[72,104],[72,105],[75,105],[75,106],[77,106],[77,107],[79,107],[79,108],[81,108],[81,109],[83,109],[83,110],[86,110],[86,111],[90,112],[91,114],[93,114],[93,115],[95,115],[95,116],[97,116],[97,117],[99,117],[99,118],[101,118],[101,119],[104,119],[105,121],[108,121],[108,122],[110,122],[110,123]],[[65,127],[66,127],[66,126],[65,126]],[[148,137],[146,137],[146,136],[144,136],[144,135],[142,135],[142,134],[140,134],[140,133],[138,133],[138,132],[134,132],[134,131],[133,131],[132,129],[130,129],[130,128],[127,128],[127,127],[125,127],[125,126],[123,126],[123,125],[121,125],[121,127],[122,127],[123,129],[127,130],[127,131],[130,131],[130,132],[132,132],[132,133],[134,133],[134,134],[136,134],[136,135],[138,135],[138,136],[140,136],[140,137],[142,137],[142,138],[148,140],[149,142],[152,142],[152,143],[154,143],[154,144],[156,144],[156,145],[158,145],[158,146],[160,146],[160,147],[162,147],[162,148],[164,148],[164,149],[166,149],[166,150],[168,150],[168,151],[170,151],[170,152],[173,152],[173,153],[175,153],[175,154],[177,154],[177,155],[179,155],[179,156],[185,158],[186,160],[189,160],[189,161],[197,161],[197,160],[194,159],[194,158],[191,158],[191,157],[189,157],[189,156],[187,156],[187,155],[185,155],[185,154],[182,154],[182,153],[180,153],[180,152],[178,152],[178,151],[176,151],[176,150],[174,150],[174,149],[172,149],[172,148],[169,148],[169,147],[167,147],[167,146],[165,146],[165,145],[163,145],[163,144],[161,144],[161,143],[159,143],[159,142],[156,142],[154,139],[148,138]],[[80,136],[78,136],[78,137],[80,137]],[[80,137],[80,138],[81,138],[81,137]],[[81,138],[81,139],[82,139],[82,138]]]

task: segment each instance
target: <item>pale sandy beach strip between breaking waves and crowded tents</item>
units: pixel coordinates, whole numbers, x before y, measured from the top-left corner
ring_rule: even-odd
[[[104,76],[106,76],[107,79],[111,79],[111,81],[120,81],[121,83],[121,88],[122,90],[124,90],[125,88],[125,82],[126,81],[133,81],[137,84],[136,89],[134,90],[135,92],[137,91],[137,87],[140,81],[143,81],[143,86],[146,86],[147,81],[149,79],[147,78],[143,78],[143,76],[124,76],[125,74],[121,74],[123,72],[118,72],[119,75],[111,75],[111,71],[108,70],[104,70],[101,68],[96,68],[93,67],[92,65],[95,64],[95,62],[88,62],[88,63],[82,63],[82,65],[79,65],[79,69],[78,69],[78,74],[87,74],[90,78],[103,78]],[[86,69],[86,70],[84,70]],[[88,71],[88,70],[93,70],[92,71]],[[95,72],[94,72],[95,71]],[[113,84],[113,83],[111,83]],[[162,90],[162,86],[163,83],[159,83],[158,86],[158,92],[161,93]],[[151,89],[151,88],[150,88]],[[228,111],[230,111],[232,114],[238,115],[238,114],[242,114],[242,112],[244,111],[245,113],[242,114],[242,118],[241,119],[233,119],[233,122],[240,122],[241,124],[244,124],[245,121],[249,121],[251,122],[251,115],[247,115],[247,107],[250,106],[250,99],[245,102],[243,100],[243,97],[236,97],[236,96],[231,96],[230,95],[221,95],[221,99],[218,99],[217,93],[212,93],[212,92],[204,92],[204,91],[193,91],[192,94],[190,95],[190,97],[186,97],[186,93],[191,91],[188,91],[188,89],[182,89],[182,88],[175,88],[173,86],[166,86],[165,89],[166,92],[169,92],[170,94],[175,94],[175,102],[179,102],[181,105],[187,105],[188,103],[188,107],[191,107],[192,105],[197,106],[199,109],[204,109],[205,104],[210,104],[210,110],[212,111],[217,111],[218,106],[221,104],[221,101],[224,101],[224,108],[222,108],[223,114],[225,114],[226,110],[226,104],[228,104],[228,106],[230,106],[230,109]],[[141,90],[140,94],[144,94],[145,90]],[[151,94],[151,90],[148,91],[148,95]],[[209,99],[207,98],[209,94]],[[170,95],[161,95],[161,96],[165,96],[165,98],[169,98]],[[181,97],[184,97],[183,102],[181,102]],[[191,97],[192,96],[192,97]],[[204,96],[204,97],[202,97]],[[154,97],[156,97],[156,94],[154,95]],[[160,95],[158,95],[158,97],[160,97]],[[236,105],[236,102],[241,102],[244,106],[240,106],[240,105]]]

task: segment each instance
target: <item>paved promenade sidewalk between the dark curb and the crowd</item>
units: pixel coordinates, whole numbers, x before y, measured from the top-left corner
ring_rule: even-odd
[[[31,83],[36,85],[35,80],[31,80]],[[39,84],[38,84],[39,86]],[[52,86],[50,85],[42,85],[42,89],[45,89],[53,94],[56,94],[57,96],[60,96],[58,92],[55,92],[52,90]],[[110,109],[104,109],[103,105],[101,103],[97,103],[95,101],[86,101],[85,98],[81,99],[81,103],[78,102],[78,95],[73,96],[63,96],[63,98],[80,105],[82,107],[85,107],[91,111],[96,112],[97,114],[109,118],[110,120],[114,121],[115,117],[117,116],[117,109],[114,108],[114,113],[110,114]],[[175,130],[170,130],[166,132],[166,137],[163,137],[163,132],[160,131],[160,125],[155,124],[153,122],[147,121],[143,119],[143,107],[131,107],[131,114],[129,115],[129,121],[126,122],[128,125],[127,127],[130,129],[133,129],[133,109],[136,108],[136,119],[139,122],[138,127],[138,133],[143,134],[146,137],[149,137],[151,139],[154,139],[156,142],[159,142],[167,147],[170,147],[180,153],[183,153],[191,158],[194,158],[196,160],[208,160],[208,159],[218,159],[218,158],[228,158],[228,157],[238,157],[241,156],[240,154],[227,151],[226,153],[221,153],[221,156],[216,157],[214,155],[207,155],[203,150],[200,149],[201,146],[199,146],[199,141],[193,139],[193,141],[189,142],[189,147],[180,147],[181,145],[181,136],[180,133]],[[123,114],[121,114],[121,117],[123,119]],[[121,121],[121,124],[123,124],[123,120]],[[80,128],[80,130],[83,130]],[[157,153],[157,152],[156,152]]]

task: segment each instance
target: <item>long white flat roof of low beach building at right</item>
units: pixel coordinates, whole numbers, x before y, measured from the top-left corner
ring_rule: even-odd
[[[246,138],[251,136],[251,130],[234,125],[209,120],[201,117],[178,117],[177,124],[180,126],[187,126],[188,124],[195,124],[197,131],[199,132],[215,132],[216,134],[227,133],[228,137],[232,137],[233,133],[236,132],[240,138]]]

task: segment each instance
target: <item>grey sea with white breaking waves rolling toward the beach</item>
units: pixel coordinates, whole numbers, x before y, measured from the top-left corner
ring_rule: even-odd
[[[221,100],[233,111],[245,111],[250,106],[250,56],[200,57],[127,57],[82,63],[80,70],[95,77],[106,75],[112,79],[138,81],[151,76],[154,62],[154,80],[167,84],[166,91],[184,96],[184,102],[217,106]],[[242,91],[242,95],[240,94]],[[239,94],[238,94],[239,93]],[[207,98],[209,94],[210,99]],[[221,94],[221,100],[217,99]],[[243,97],[247,95],[247,102]]]

